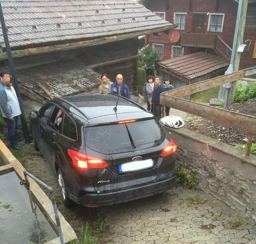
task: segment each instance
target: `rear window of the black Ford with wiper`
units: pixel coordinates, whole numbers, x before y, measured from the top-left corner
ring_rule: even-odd
[[[154,119],[84,128],[86,146],[106,154],[151,148],[163,142],[164,135]]]

